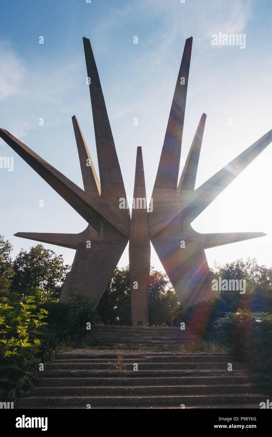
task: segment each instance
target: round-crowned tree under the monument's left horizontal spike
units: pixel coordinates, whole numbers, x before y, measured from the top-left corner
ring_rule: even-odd
[[[33,294],[36,287],[52,298],[58,298],[69,265],[63,264],[62,255],[45,249],[42,244],[32,246],[27,252],[21,249],[14,260],[14,277],[11,291],[22,296]]]

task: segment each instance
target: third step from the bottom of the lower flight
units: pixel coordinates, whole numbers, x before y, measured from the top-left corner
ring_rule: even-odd
[[[45,375],[44,378],[38,379],[36,386],[38,387],[90,387],[92,385],[100,386],[138,386],[138,385],[241,385],[248,383],[248,376],[239,375],[220,375],[220,376],[181,376],[181,377],[145,377],[135,378],[134,375],[126,378],[111,377],[111,378],[51,378]]]

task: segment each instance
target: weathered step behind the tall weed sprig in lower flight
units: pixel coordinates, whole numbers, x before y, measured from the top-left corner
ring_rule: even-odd
[[[245,367],[244,363],[232,363],[232,368],[234,369],[243,369]],[[122,362],[122,368],[124,370],[133,370],[134,367],[134,361],[130,362]],[[166,362],[138,362],[138,371],[139,370],[171,370],[171,369],[180,369],[180,370],[187,370],[187,369],[225,369],[227,370],[228,363],[222,362],[222,361],[201,361],[201,362],[176,362],[172,363],[169,361]],[[90,362],[84,362],[80,363],[77,361],[69,361],[65,363],[49,363],[45,365],[46,370],[83,370],[83,369],[92,369],[92,370],[104,370],[104,369],[110,369],[116,367],[116,363],[93,363]]]

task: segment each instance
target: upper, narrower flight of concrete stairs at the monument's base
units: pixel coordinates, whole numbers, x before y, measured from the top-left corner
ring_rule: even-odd
[[[114,347],[126,346],[176,346],[184,342],[199,341],[193,328],[180,327],[141,327],[141,326],[95,326],[95,341],[91,346]]]

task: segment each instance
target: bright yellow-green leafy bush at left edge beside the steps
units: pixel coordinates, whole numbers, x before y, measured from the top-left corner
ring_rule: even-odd
[[[0,299],[0,399],[16,401],[31,387],[42,356],[42,336],[47,315],[34,298],[17,294]]]

